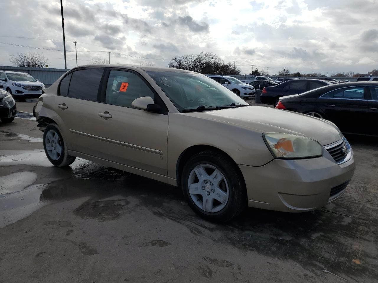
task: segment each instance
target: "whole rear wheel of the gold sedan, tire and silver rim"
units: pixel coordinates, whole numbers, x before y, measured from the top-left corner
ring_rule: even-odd
[[[55,123],[47,125],[43,132],[43,148],[50,162],[57,167],[68,166],[76,157],[68,154],[67,144]]]

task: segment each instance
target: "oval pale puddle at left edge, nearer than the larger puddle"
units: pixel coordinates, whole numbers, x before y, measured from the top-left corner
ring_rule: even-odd
[[[30,186],[37,180],[34,172],[17,172],[0,177],[0,194],[10,194],[18,192]]]

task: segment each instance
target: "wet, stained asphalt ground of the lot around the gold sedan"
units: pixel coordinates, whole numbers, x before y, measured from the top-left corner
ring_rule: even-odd
[[[356,172],[332,204],[221,225],[174,186],[79,158],[55,168],[33,105],[0,122],[0,282],[377,281],[377,138],[347,136]]]

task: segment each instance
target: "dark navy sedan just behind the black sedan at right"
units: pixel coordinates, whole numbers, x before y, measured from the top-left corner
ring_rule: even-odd
[[[276,86],[265,87],[262,90],[260,100],[264,104],[276,107],[278,99],[282,96],[300,94],[311,89],[321,88],[322,86],[333,85],[330,82],[314,79],[289,80]]]

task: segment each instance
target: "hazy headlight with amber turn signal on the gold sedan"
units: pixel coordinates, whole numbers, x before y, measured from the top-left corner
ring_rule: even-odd
[[[305,158],[321,156],[323,148],[311,138],[283,133],[263,134],[266,145],[276,158]]]

